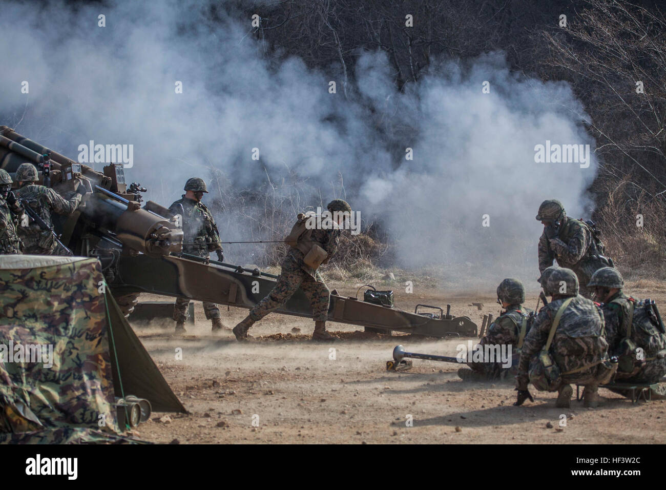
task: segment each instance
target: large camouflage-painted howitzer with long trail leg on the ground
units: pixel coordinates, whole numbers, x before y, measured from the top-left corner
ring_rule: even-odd
[[[141,206],[142,189],[125,183],[123,165],[95,171],[0,126],[0,168],[15,180],[16,169],[27,161],[39,170],[39,183],[46,180],[65,198],[75,192],[76,177],[85,181],[89,193],[82,205],[69,217],[54,216],[55,229],[75,255],[99,259],[111,292],[127,315],[144,292],[252,308],[274,286],[274,276],[258,269],[203,263],[199,257],[181,253],[182,230],[173,216],[153,201]],[[454,317],[450,310],[445,314],[439,308],[439,313],[420,313],[424,306],[410,313],[333,291],[328,320],[432,337],[477,335],[477,326],[468,317]],[[278,313],[312,317],[310,302],[300,289]]]

